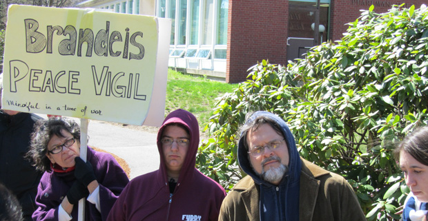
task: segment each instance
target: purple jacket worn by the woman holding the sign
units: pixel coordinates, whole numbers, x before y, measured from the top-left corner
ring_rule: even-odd
[[[85,202],[85,220],[106,220],[108,212],[128,184],[129,179],[119,163],[110,154],[94,151],[88,147],[87,160],[93,165],[99,182],[99,203],[101,213],[95,204]],[[37,190],[37,210],[32,214],[33,220],[58,220],[59,205],[68,189],[75,181],[74,171],[58,173],[46,171],[41,177]],[[72,220],[77,220],[78,206],[72,209]]]

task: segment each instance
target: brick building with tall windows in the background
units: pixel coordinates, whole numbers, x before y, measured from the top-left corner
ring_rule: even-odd
[[[89,0],[81,8],[173,20],[168,65],[228,83],[245,81],[257,61],[285,65],[313,45],[338,40],[360,10],[423,0]],[[316,25],[318,24],[318,26]]]

